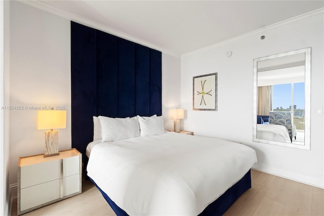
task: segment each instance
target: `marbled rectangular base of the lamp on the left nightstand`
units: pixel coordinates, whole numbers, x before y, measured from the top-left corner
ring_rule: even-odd
[[[45,131],[45,154],[44,157],[59,155],[59,131]]]

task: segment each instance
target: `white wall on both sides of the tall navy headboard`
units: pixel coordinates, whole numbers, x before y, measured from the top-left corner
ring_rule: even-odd
[[[70,20],[20,2],[11,2],[10,105],[65,105],[66,129],[59,150],[71,148]],[[180,104],[180,58],[162,55],[163,114]],[[20,156],[43,154],[44,130],[36,110],[10,112],[10,184],[17,183]],[[165,118],[166,127],[170,124]]]

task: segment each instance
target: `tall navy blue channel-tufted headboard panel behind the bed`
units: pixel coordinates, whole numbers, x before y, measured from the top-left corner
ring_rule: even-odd
[[[71,21],[72,148],[85,159],[93,116],[160,116],[161,83],[161,52]]]

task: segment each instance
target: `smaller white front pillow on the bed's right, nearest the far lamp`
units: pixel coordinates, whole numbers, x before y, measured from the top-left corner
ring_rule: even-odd
[[[151,136],[165,133],[162,116],[156,117],[140,117],[138,116],[140,124],[140,135]]]

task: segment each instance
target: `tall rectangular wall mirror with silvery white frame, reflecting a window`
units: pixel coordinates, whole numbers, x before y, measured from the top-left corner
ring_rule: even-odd
[[[311,48],[254,59],[253,141],[310,150]]]

